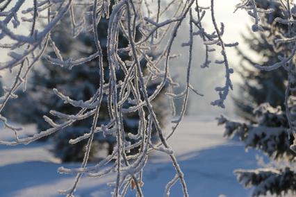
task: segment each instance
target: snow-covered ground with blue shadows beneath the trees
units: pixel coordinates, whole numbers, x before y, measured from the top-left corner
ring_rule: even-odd
[[[256,153],[245,153],[242,144],[224,139],[222,134],[223,128],[211,117],[187,117],[169,140],[185,174],[190,196],[250,195],[238,184],[233,170],[256,168]],[[7,130],[0,130],[0,139],[9,137]],[[72,185],[74,175],[58,174],[57,169],[79,164],[59,164],[48,147],[49,144],[37,142],[27,146],[0,145],[0,196],[60,196],[58,189]],[[144,173],[145,196],[163,196],[166,183],[173,177],[169,157],[151,154]],[[113,180],[113,175],[84,177],[76,196],[110,196],[112,189],[106,183]],[[130,190],[127,196],[135,196],[134,191]],[[171,196],[182,196],[179,183],[172,188]]]

